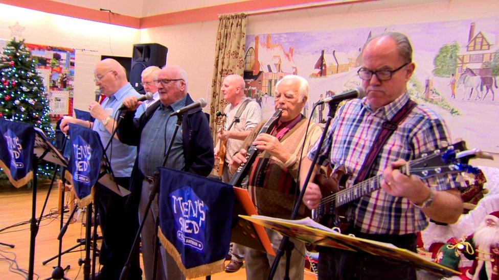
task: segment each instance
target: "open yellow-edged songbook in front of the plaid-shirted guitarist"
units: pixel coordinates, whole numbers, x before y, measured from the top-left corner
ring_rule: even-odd
[[[413,251],[398,248],[390,243],[357,238],[353,235],[344,235],[336,229],[328,228],[308,217],[301,220],[286,220],[258,215],[240,215],[240,217],[312,245],[335,247],[351,251],[365,251],[376,256],[410,263],[417,268],[439,276],[447,277],[461,274],[459,271],[432,262]]]

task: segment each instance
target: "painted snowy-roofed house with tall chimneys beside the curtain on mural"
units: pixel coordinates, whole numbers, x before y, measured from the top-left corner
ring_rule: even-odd
[[[298,68],[293,60],[293,47],[289,52],[281,44],[273,44],[267,35],[266,42],[260,43],[255,36],[255,43],[248,47],[245,56],[244,81],[246,81],[247,96],[261,97],[264,94],[274,95],[277,81],[288,74],[298,74]]]

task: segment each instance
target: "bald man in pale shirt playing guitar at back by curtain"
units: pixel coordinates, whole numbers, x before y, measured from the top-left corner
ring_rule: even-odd
[[[223,99],[229,104],[223,110],[225,115],[224,128],[217,133],[218,141],[215,145],[215,159],[223,162],[218,168],[223,168],[221,177],[223,183],[229,183],[232,174],[229,172],[228,164],[232,156],[239,151],[244,140],[253,131],[255,126],[262,120],[262,109],[256,103],[244,95],[244,79],[240,75],[232,74],[223,79],[220,91]],[[224,152],[224,158],[220,159],[220,152]],[[219,173],[220,174],[220,173]],[[231,251],[232,260],[225,267],[226,272],[236,272],[241,268],[244,248],[233,244]]]

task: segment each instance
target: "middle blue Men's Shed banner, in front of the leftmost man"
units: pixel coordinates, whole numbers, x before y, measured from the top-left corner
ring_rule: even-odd
[[[70,123],[70,161],[65,177],[73,183],[79,206],[87,206],[94,197],[99,179],[103,147],[97,132]]]

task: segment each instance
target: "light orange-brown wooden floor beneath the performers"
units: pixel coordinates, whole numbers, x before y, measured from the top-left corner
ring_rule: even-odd
[[[40,215],[43,201],[48,193],[47,186],[41,186],[36,195],[36,217]],[[0,242],[15,245],[15,248],[9,248],[0,245],[0,279],[25,279],[27,273],[21,273],[16,270],[15,264],[8,259],[14,259],[20,269],[28,271],[29,263],[29,245],[30,245],[30,225],[32,192],[27,187],[15,189],[10,186],[0,186]],[[49,278],[52,275],[53,266],[57,266],[57,259],[42,265],[43,261],[56,256],[58,252],[57,235],[59,233],[59,218],[57,215],[58,191],[53,188],[49,196],[49,201],[44,215],[55,213],[47,218],[44,218],[40,224],[35,245],[35,266],[34,279],[37,275],[40,279]],[[65,214],[64,219],[67,219],[69,213]],[[76,215],[75,215],[76,216]],[[77,239],[84,238],[85,227],[82,225],[82,220],[85,220],[86,214],[81,212],[77,221],[70,224],[62,241],[62,250],[72,247],[77,244]],[[26,222],[24,225],[4,228]],[[83,246],[80,247],[83,249]],[[66,253],[62,257],[61,266],[70,265],[71,268],[65,272],[65,277],[70,279],[83,279],[83,267],[78,266],[78,259],[84,259],[84,251],[75,251]],[[10,267],[10,268],[9,268]],[[212,279],[245,279],[246,274],[244,269],[236,273],[217,273],[212,275]],[[199,278],[204,279],[204,277]],[[305,272],[305,279],[315,279],[315,276],[310,272]]]

